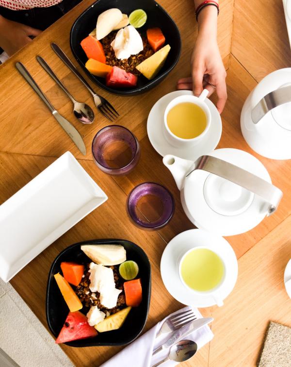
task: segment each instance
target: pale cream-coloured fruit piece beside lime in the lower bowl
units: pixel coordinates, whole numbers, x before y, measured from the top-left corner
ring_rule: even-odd
[[[126,250],[121,245],[82,245],[81,250],[96,264],[118,265],[126,260]]]

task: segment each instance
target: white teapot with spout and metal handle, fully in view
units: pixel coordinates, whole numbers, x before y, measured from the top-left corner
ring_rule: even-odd
[[[238,149],[218,149],[195,162],[166,155],[187,217],[221,236],[240,234],[275,212],[282,191],[262,163]]]

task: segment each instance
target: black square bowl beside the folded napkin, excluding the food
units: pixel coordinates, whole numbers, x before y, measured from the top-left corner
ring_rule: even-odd
[[[70,347],[117,346],[128,344],[142,332],[146,324],[151,293],[151,270],[145,251],[133,242],[127,240],[98,239],[79,242],[67,247],[56,257],[49,270],[47,285],[46,314],[49,329],[51,333],[57,337],[69,313],[68,306],[54,279],[54,274],[61,271],[62,261],[73,261],[80,264],[91,262],[92,260],[90,260],[81,250],[81,245],[88,244],[118,244],[125,248],[127,260],[134,260],[139,266],[138,278],[141,278],[142,282],[143,300],[138,307],[132,307],[129,316],[120,329],[98,333],[98,335],[93,338],[74,340],[65,344]],[[89,309],[86,309],[86,312],[84,312],[84,309],[85,307],[80,311],[86,314]]]

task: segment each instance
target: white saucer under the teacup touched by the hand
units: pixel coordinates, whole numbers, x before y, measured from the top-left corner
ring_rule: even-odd
[[[163,134],[163,115],[168,103],[182,95],[193,95],[193,93],[190,90],[177,90],[166,94],[153,105],[147,118],[147,135],[153,148],[163,157],[166,154],[173,154],[180,158],[195,160],[217,147],[222,132],[221,117],[215,105],[206,98],[205,102],[211,113],[211,124],[205,137],[191,148],[181,149],[172,146],[166,141]]]

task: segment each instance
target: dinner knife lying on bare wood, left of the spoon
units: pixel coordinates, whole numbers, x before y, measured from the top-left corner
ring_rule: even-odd
[[[76,144],[81,153],[83,155],[86,155],[86,147],[78,130],[67,119],[65,119],[65,117],[63,117],[58,113],[58,111],[56,111],[56,109],[50,103],[50,101],[45,96],[43,91],[36,84],[35,80],[32,78],[31,74],[28,72],[26,67],[22,63],[17,62],[16,68],[19,71],[19,73],[23,76],[23,78],[27,81],[27,83],[30,84],[30,86],[37,93],[37,95],[45,102],[50,112],[52,113],[53,117],[58,121],[58,123],[62,126],[65,132],[73,140],[73,142]]]

